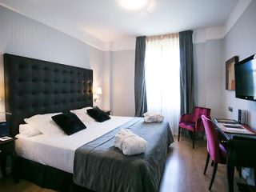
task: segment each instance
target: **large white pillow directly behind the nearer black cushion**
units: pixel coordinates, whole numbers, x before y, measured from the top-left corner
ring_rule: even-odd
[[[65,135],[64,131],[59,128],[59,126],[51,118],[52,116],[61,113],[54,114],[36,114],[31,118],[25,118],[24,121],[34,129],[39,130],[42,134],[46,135]]]

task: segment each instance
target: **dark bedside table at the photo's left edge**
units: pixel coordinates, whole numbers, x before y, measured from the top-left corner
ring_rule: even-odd
[[[11,138],[6,141],[0,141],[0,170],[2,172],[2,176],[6,176],[6,158],[10,155],[11,159],[11,173],[14,178],[14,181],[17,181],[16,173],[15,173],[15,161],[16,161],[16,152],[14,148],[14,141],[17,138]]]

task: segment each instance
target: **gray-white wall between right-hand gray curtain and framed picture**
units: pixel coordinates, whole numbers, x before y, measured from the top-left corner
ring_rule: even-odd
[[[195,43],[194,104],[211,109],[212,118],[222,118],[222,39]]]

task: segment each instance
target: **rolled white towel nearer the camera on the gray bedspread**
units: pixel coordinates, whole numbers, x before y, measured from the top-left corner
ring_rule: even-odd
[[[119,130],[118,134],[114,137],[114,146],[118,147],[126,155],[145,153],[146,145],[145,139],[127,129]]]

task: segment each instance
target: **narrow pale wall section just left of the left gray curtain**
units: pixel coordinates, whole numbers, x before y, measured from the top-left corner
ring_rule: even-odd
[[[112,52],[112,95],[114,115],[134,116],[134,61],[135,51]]]

